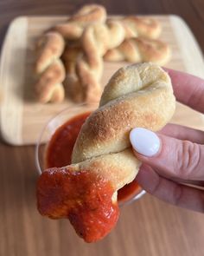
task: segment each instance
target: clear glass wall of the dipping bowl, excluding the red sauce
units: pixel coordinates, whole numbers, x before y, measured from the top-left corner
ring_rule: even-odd
[[[50,141],[51,137],[54,135],[54,132],[61,127],[65,122],[73,118],[74,116],[92,112],[98,106],[96,104],[79,104],[75,105],[74,107],[69,107],[62,110],[59,114],[54,115],[51,120],[48,121],[46,126],[42,129],[41,134],[38,138],[35,148],[35,164],[37,167],[37,171],[39,174],[43,172],[45,169],[45,154],[46,148],[48,146],[48,142]],[[141,188],[136,193],[131,194],[127,197],[126,200],[121,200],[119,205],[126,205],[131,203],[134,200],[138,200],[140,197],[145,194],[145,191]]]

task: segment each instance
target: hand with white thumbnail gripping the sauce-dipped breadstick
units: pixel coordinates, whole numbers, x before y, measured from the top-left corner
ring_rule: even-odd
[[[204,113],[204,80],[166,71],[176,100]],[[143,189],[176,206],[204,213],[204,191],[176,182],[204,181],[204,132],[169,124],[156,134],[135,128],[130,139],[134,153],[143,162],[137,174]]]

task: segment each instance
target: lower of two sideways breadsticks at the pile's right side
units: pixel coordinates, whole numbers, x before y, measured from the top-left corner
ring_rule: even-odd
[[[118,48],[110,49],[104,59],[109,62],[155,62],[164,65],[169,61],[170,49],[167,43],[142,37],[126,39]]]

